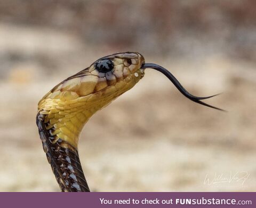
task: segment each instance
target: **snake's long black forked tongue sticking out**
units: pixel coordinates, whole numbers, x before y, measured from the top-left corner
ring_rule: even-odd
[[[151,68],[151,69],[155,69],[157,71],[160,71],[162,74],[164,74],[167,78],[170,79],[170,81],[174,84],[175,87],[177,87],[177,89],[186,97],[188,98],[189,100],[193,101],[193,102],[196,102],[196,103],[199,103],[203,106],[207,106],[207,107],[210,107],[210,108],[214,108],[214,109],[217,109],[217,110],[221,110],[221,111],[226,111],[226,110],[223,110],[221,108],[217,108],[217,107],[214,107],[214,106],[211,106],[205,102],[202,102],[201,100],[204,100],[204,99],[207,99],[207,98],[212,98],[212,97],[215,97],[219,94],[214,94],[214,95],[211,95],[211,96],[207,96],[207,97],[196,97],[192,94],[190,94],[181,84],[180,82],[178,81],[177,78],[175,78],[172,73],[170,73],[170,71],[168,71],[167,69],[159,66],[159,65],[156,65],[155,63],[142,63],[141,65],[141,69],[146,69],[146,68]]]

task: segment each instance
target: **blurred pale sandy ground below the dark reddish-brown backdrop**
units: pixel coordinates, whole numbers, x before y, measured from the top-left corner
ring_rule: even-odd
[[[35,124],[37,102],[106,55],[82,44],[51,29],[0,25],[2,51],[28,57],[13,64],[2,56],[0,191],[59,191]],[[228,112],[189,101],[148,69],[84,127],[79,154],[91,190],[256,191],[255,63],[218,54],[145,58],[170,69],[192,94],[223,92],[207,102]]]

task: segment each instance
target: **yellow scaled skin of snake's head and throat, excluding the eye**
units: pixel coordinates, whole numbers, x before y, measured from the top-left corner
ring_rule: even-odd
[[[145,59],[139,53],[117,53],[108,58],[114,69],[99,73],[95,61],[74,76],[55,86],[38,103],[38,113],[46,115],[47,130],[58,139],[77,149],[79,134],[89,118],[99,109],[130,90],[144,75],[140,69]],[[62,144],[63,148],[65,143]]]

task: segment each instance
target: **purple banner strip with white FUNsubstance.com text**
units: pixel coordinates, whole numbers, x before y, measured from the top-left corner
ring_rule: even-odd
[[[255,193],[0,193],[1,207],[255,207]]]

